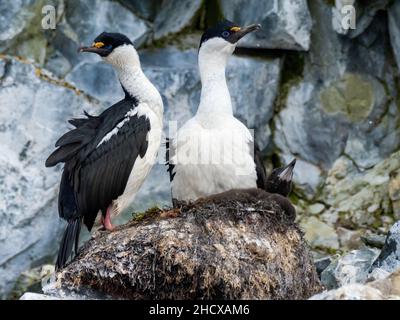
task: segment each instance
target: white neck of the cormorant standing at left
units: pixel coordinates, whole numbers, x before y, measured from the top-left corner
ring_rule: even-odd
[[[118,78],[125,94],[134,97],[138,103],[146,103],[162,117],[163,103],[160,93],[146,77],[140,62],[126,64],[117,69]]]

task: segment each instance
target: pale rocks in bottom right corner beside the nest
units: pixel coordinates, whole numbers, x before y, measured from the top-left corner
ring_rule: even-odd
[[[327,290],[310,299],[400,300],[399,226],[400,222],[396,222],[390,228],[381,251],[364,247],[335,259],[326,257],[316,261]]]

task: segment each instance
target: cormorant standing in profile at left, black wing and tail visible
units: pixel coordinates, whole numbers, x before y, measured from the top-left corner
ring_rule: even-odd
[[[161,142],[163,103],[143,73],[132,42],[123,34],[101,33],[93,52],[117,71],[125,98],[98,116],[72,119],[75,127],[55,144],[46,160],[51,167],[64,163],[58,210],[68,221],[61,241],[56,268],[63,267],[77,252],[81,223],[90,231],[101,212],[105,229],[112,230],[111,215],[123,211],[156,161]]]

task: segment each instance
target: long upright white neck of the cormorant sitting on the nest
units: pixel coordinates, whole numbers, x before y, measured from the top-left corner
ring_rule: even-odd
[[[197,114],[222,113],[232,115],[232,102],[226,83],[228,54],[199,52],[201,97]]]

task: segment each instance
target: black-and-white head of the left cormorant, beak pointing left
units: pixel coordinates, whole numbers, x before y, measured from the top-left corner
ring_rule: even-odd
[[[80,47],[79,51],[97,53],[116,68],[123,68],[132,63],[140,64],[132,41],[121,33],[103,32],[94,39],[90,47]]]

